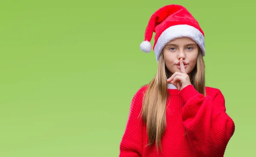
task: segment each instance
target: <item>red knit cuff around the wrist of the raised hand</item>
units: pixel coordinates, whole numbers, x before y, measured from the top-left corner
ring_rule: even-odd
[[[192,84],[187,85],[185,88],[180,90],[179,95],[185,102],[185,104],[189,101],[193,96],[200,94],[197,90],[195,90]]]

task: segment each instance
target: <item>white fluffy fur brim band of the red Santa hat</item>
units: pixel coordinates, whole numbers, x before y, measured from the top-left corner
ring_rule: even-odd
[[[167,28],[165,31],[163,31],[163,33],[157,39],[157,43],[154,47],[154,53],[157,59],[157,63],[158,63],[160,53],[162,52],[164,46],[168,42],[170,42],[175,38],[180,38],[185,36],[190,37],[192,40],[194,40],[198,44],[198,46],[201,48],[203,56],[205,55],[204,35],[197,28],[192,27],[190,25],[174,25]]]

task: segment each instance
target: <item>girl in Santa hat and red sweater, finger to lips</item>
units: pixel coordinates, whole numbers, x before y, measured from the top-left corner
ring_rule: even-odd
[[[204,32],[180,5],[151,16],[144,52],[153,31],[157,74],[131,101],[119,157],[223,157],[235,125],[221,91],[205,87]]]

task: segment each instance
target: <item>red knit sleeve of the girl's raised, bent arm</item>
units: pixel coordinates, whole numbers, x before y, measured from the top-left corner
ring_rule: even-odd
[[[180,90],[182,119],[189,142],[199,157],[223,157],[235,124],[227,115],[221,91],[204,96],[193,85]]]

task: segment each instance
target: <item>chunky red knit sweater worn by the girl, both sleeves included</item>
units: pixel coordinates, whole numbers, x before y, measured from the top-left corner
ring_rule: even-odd
[[[131,101],[119,157],[224,156],[235,125],[226,113],[224,96],[220,90],[206,87],[207,96],[204,96],[193,85],[180,91],[168,89],[170,96],[167,99],[166,130],[161,140],[163,153],[157,153],[155,143],[146,147],[146,126],[143,119],[138,118],[146,88],[140,88]]]

